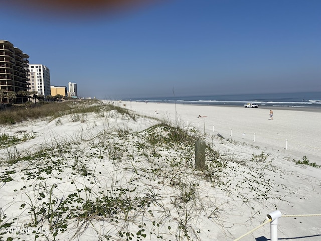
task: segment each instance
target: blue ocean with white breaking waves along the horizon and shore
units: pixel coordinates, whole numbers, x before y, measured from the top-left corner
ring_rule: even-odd
[[[321,92],[234,94],[210,96],[157,97],[123,99],[126,101],[148,101],[181,104],[238,105],[255,103],[259,106],[321,108]]]

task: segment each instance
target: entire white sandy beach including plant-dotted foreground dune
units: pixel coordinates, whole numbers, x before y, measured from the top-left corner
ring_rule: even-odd
[[[114,106],[0,127],[0,239],[266,241],[276,210],[279,240],[320,239],[320,112]]]

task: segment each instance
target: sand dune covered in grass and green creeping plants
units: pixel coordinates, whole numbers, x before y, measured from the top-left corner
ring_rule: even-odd
[[[225,232],[227,205],[248,207],[252,220],[261,218],[260,205],[275,208],[274,200],[280,199],[260,172],[277,170],[261,150],[240,158],[231,152],[237,143],[141,116],[117,103],[77,101],[31,109],[35,112],[17,111],[33,122],[53,122],[62,132],[70,123],[81,128],[69,136],[50,134],[29,149],[22,145],[34,142],[37,133],[0,136],[1,192],[12,198],[2,200],[0,227],[11,231],[0,233],[1,240],[205,240],[204,217],[213,231]],[[37,117],[42,109],[48,112]],[[14,116],[7,126],[26,120]],[[194,168],[199,140],[207,143],[204,171]],[[216,143],[230,148],[218,150]],[[295,164],[309,162],[303,158]]]

